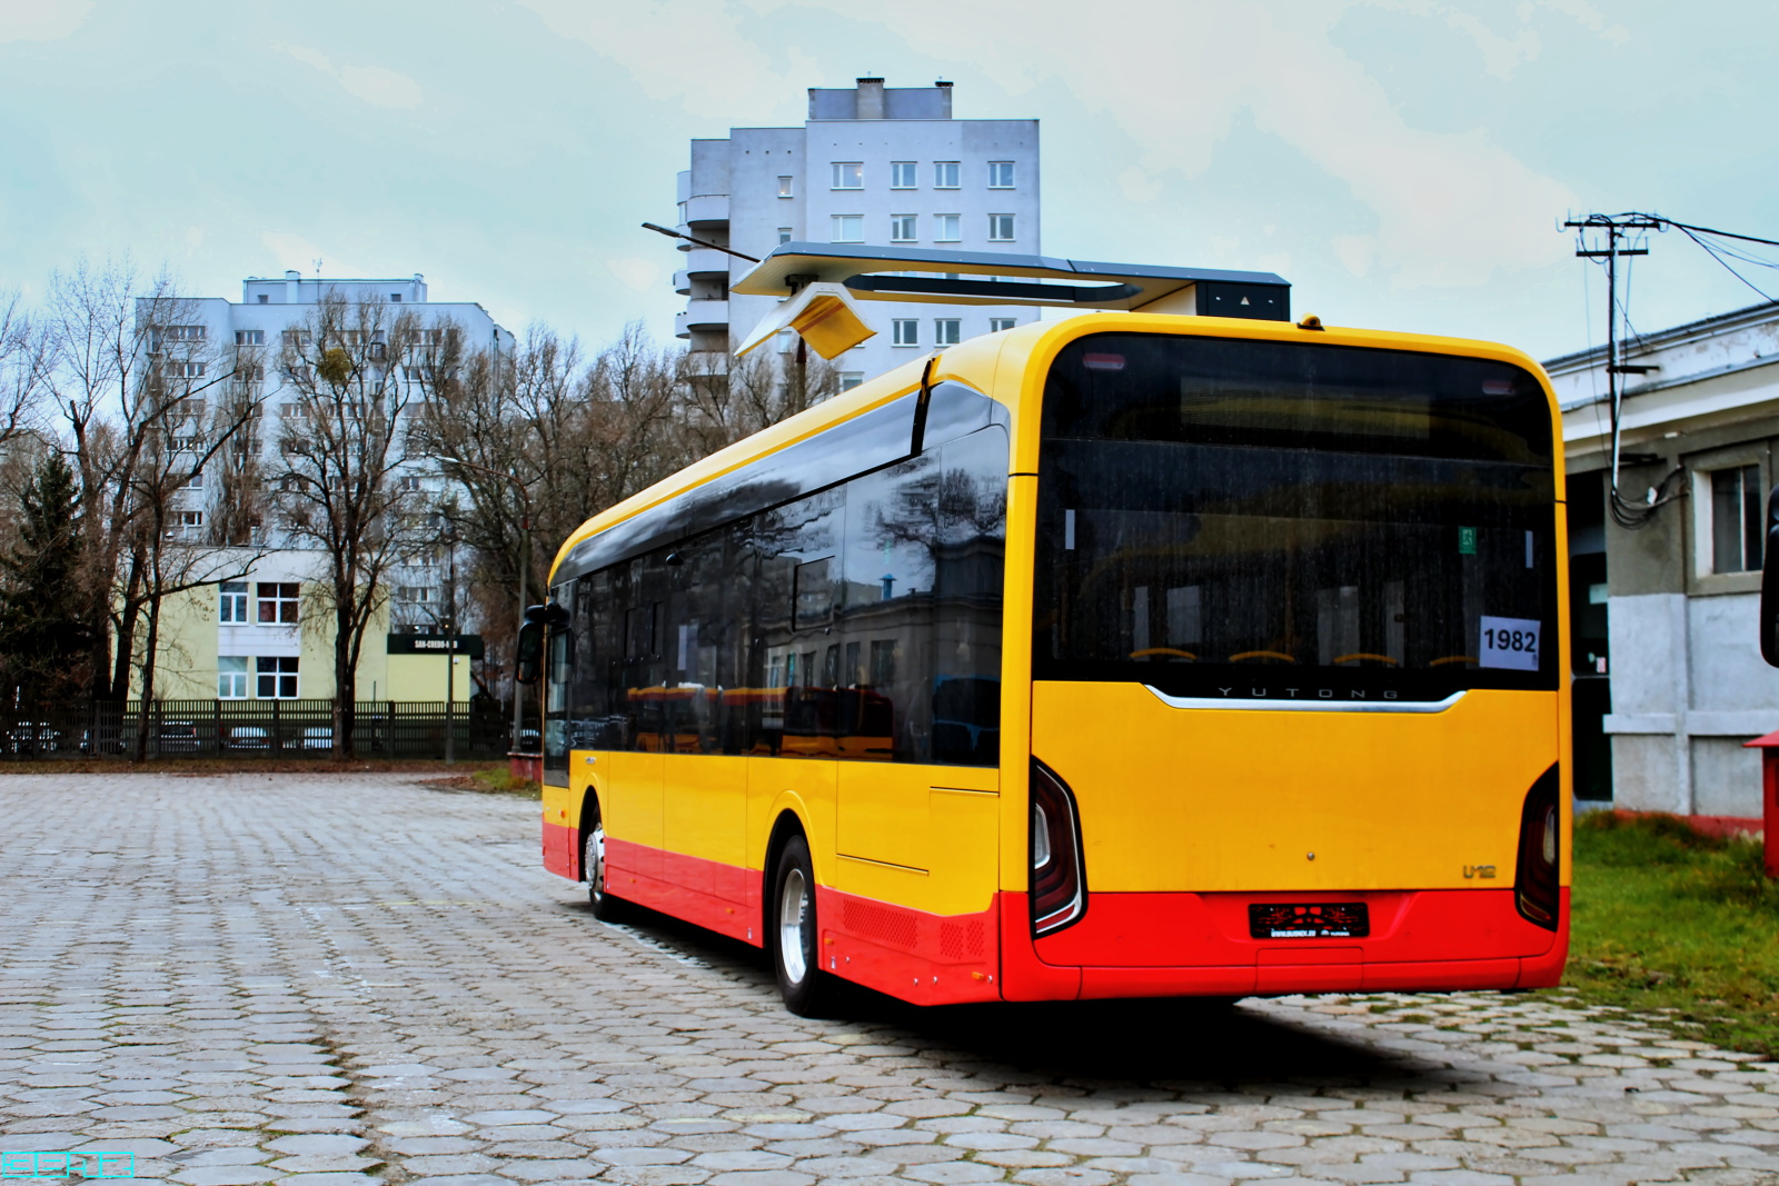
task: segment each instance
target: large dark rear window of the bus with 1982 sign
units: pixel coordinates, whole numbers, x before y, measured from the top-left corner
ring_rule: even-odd
[[[1034,676],[1224,699],[1553,688],[1551,448],[1542,388],[1507,363],[1076,341],[1044,395]]]

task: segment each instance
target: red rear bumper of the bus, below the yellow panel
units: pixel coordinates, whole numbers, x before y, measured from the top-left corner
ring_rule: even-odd
[[[1372,934],[1249,934],[1251,903],[1293,898],[1366,902]],[[1567,887],[1555,932],[1521,918],[1512,889],[1101,893],[1080,923],[1035,942],[1026,918],[1025,894],[1002,894],[1007,999],[1537,989],[1560,982],[1569,948]]]

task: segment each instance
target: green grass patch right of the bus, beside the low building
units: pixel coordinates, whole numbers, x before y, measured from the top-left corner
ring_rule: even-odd
[[[1562,994],[1660,1012],[1686,1037],[1779,1058],[1779,882],[1759,843],[1672,816],[1578,816]]]

